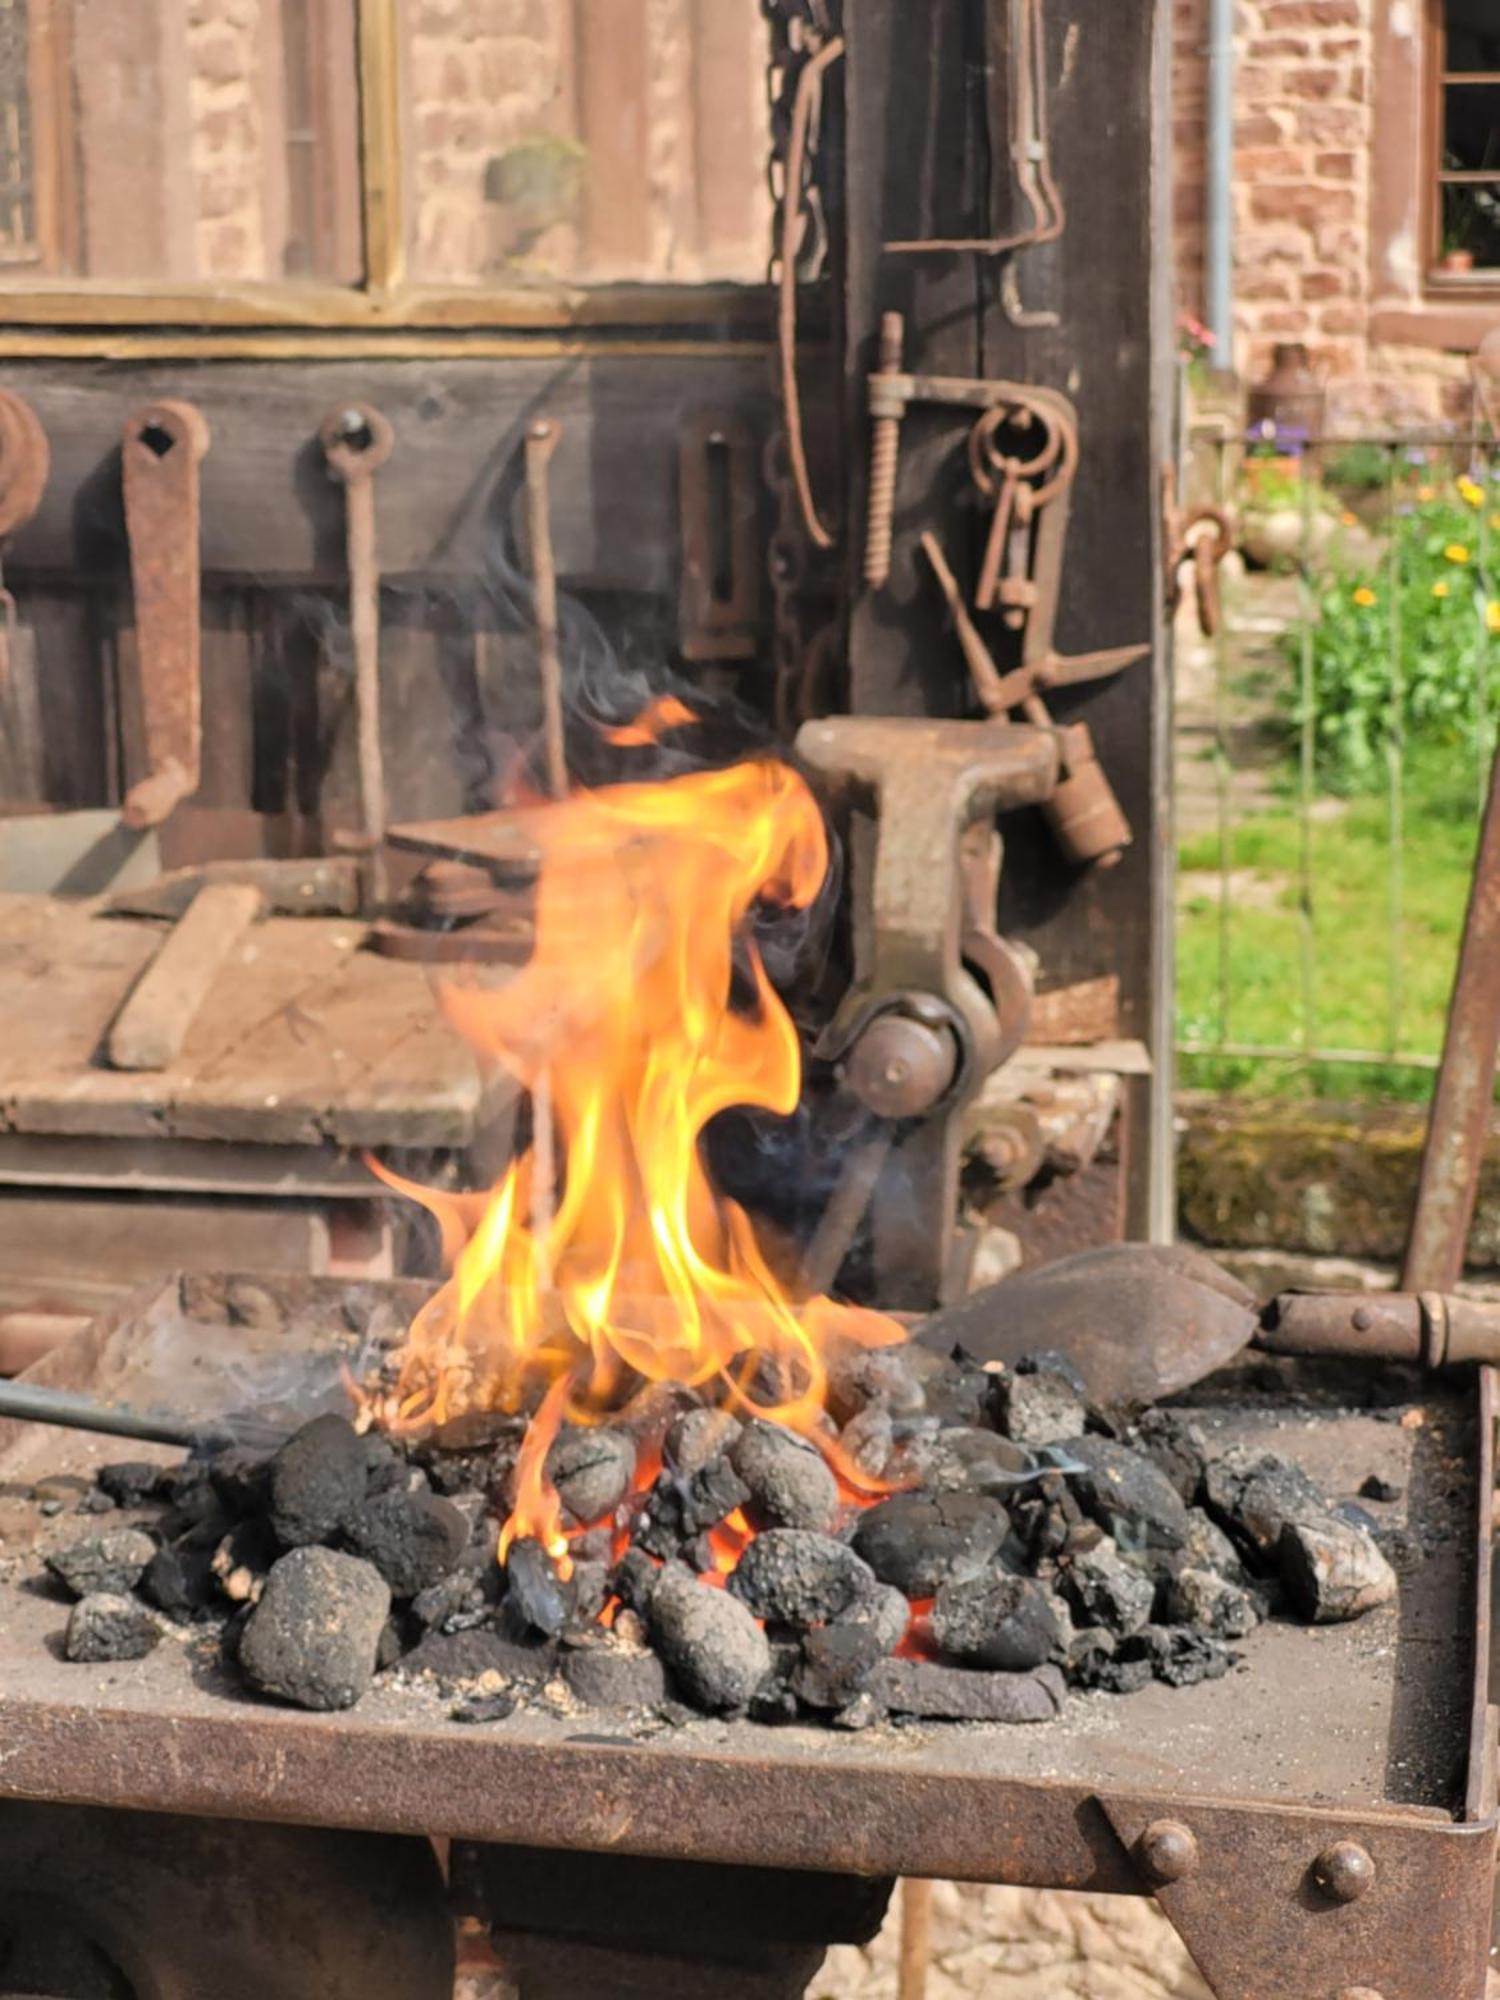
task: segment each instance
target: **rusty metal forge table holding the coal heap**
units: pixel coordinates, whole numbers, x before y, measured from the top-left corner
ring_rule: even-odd
[[[332,1390],[352,1322],[400,1324],[418,1294],[278,1280],[280,1324],[252,1328],[228,1324],[222,1286],[172,1280],[38,1374],[136,1404],[170,1388],[208,1412],[274,1400],[300,1370],[306,1396],[308,1370]],[[1198,1416],[1274,1438],[1336,1492],[1366,1472],[1398,1482],[1400,1604],[1324,1630],[1272,1622],[1224,1680],[1072,1696],[1054,1724],[856,1736],[714,1720],[632,1734],[600,1710],[524,1708],[474,1728],[436,1692],[390,1684],[348,1714],[304,1714],[174,1642],[64,1666],[34,1544],[76,1536],[78,1518],[38,1532],[32,1486],[86,1480],[120,1444],[0,1428],[0,1848],[38,1810],[22,1800],[450,1836],[460,1906],[496,1924],[528,2000],[800,1994],[828,1942],[874,1930],[900,1874],[1156,1894],[1220,2000],[1478,2000],[1496,1376],[1384,1408],[1248,1386]]]

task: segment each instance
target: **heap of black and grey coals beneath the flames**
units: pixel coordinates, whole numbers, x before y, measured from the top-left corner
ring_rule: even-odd
[[[186,1310],[204,1304],[200,1286]],[[400,1320],[342,1308],[334,1344],[378,1378]],[[388,1436],[338,1408],[292,1428],[292,1398],[274,1452],[106,1462],[46,1556],[76,1600],[62,1652],[128,1662],[170,1632],[246,1698],[312,1710],[394,1684],[466,1722],[562,1706],[862,1732],[1216,1680],[1266,1618],[1336,1622],[1396,1592],[1382,1538],[1404,1544],[1352,1486],[1336,1504],[1186,1412],[1092,1408],[1062,1358],[1012,1374],[912,1338],[834,1352],[830,1380],[842,1424],[812,1436],[712,1388],[626,1382],[616,1412],[552,1436],[550,1546],[512,1532],[534,1410]],[[1086,1428],[1006,1434],[1038,1408]]]

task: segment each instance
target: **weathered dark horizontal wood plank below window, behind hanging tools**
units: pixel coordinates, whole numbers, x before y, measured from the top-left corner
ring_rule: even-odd
[[[8,576],[122,576],[120,424],[142,400],[180,394],[182,366],[12,362],[6,386],[28,398],[52,444],[52,478],[6,548]],[[396,430],[376,478],[386,576],[498,576],[506,562],[514,572],[520,440],[546,410],[562,424],[552,464],[562,580],[666,594],[676,592],[686,424],[710,408],[762,438],[770,422],[764,356],[744,350],[202,362],[192,398],[214,434],[202,464],[204,576],[258,582],[344,576],[342,492],[316,444],[320,418],[340,402],[372,402]]]

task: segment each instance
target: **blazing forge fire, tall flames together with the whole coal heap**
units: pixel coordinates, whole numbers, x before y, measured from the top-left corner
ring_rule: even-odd
[[[100,1474],[88,1506],[140,1526],[50,1556],[70,1658],[176,1620],[310,1708],[388,1674],[470,1722],[1046,1722],[1070,1684],[1214,1678],[1266,1616],[1392,1598],[1372,1522],[1296,1466],[1104,1408],[1066,1354],[986,1366],[940,1322],[812,1294],[714,1184],[710,1122],[802,1094],[764,926],[814,908],[830,848],[790,766],[526,824],[532,956],[446,1006],[526,1094],[528,1142],[482,1192],[384,1176],[450,1276],[350,1378],[354,1420]]]

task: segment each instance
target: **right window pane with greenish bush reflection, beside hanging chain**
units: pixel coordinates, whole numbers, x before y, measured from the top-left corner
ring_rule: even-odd
[[[758,0],[410,0],[424,284],[758,282]]]

